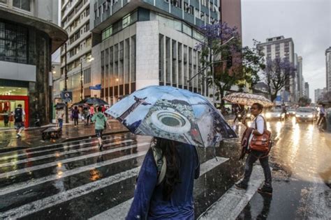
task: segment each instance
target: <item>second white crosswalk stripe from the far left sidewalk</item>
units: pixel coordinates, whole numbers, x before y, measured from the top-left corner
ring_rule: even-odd
[[[117,145],[119,143],[128,143],[128,142],[132,142],[132,141],[133,141],[132,139],[128,139],[128,140],[125,140],[125,141],[116,141],[115,143],[108,143],[108,144],[104,144],[103,146],[105,146],[105,147],[106,146],[113,146],[113,145]],[[68,155],[68,154],[75,153],[75,152],[82,152],[82,151],[92,150],[92,149],[95,149],[95,148],[97,148],[97,146],[92,146],[92,147],[88,147],[88,148],[80,148],[80,149],[77,149],[77,150],[68,150],[68,151],[64,151],[64,152],[54,152],[53,154],[50,154],[50,155],[43,155],[43,156],[39,156],[39,157],[31,157],[31,158],[28,158],[28,159],[21,159],[21,160],[15,161],[15,162],[0,164],[0,167],[13,166],[13,165],[16,165],[16,164],[23,164],[23,163],[27,163],[27,162],[34,162],[34,161],[40,160],[40,159],[46,159],[46,158],[50,158],[50,157],[59,157],[59,156],[62,156],[62,155]]]

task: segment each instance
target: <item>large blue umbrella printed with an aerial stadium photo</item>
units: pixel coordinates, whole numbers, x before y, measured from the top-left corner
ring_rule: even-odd
[[[157,136],[194,146],[236,138],[219,111],[202,95],[172,86],[148,86],[105,111],[134,134]]]

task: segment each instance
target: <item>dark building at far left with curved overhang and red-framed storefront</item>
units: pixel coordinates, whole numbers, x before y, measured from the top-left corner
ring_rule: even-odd
[[[58,3],[0,1],[0,111],[22,104],[26,127],[34,126],[37,114],[42,124],[52,118],[51,54],[68,39],[56,25]]]

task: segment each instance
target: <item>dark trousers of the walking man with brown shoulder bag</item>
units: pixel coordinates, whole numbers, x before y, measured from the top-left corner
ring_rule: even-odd
[[[265,152],[258,152],[255,150],[252,150],[246,159],[245,164],[245,174],[244,174],[244,180],[242,180],[243,184],[248,184],[249,178],[251,177],[251,172],[253,171],[253,164],[258,160],[258,157],[263,157],[265,155]],[[269,166],[269,156],[260,158],[260,164],[263,168],[263,173],[265,173],[265,185],[267,187],[271,187],[271,171]]]

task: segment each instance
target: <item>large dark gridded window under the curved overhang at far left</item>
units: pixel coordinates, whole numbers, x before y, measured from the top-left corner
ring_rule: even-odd
[[[27,38],[23,26],[0,22],[0,61],[27,63]]]

